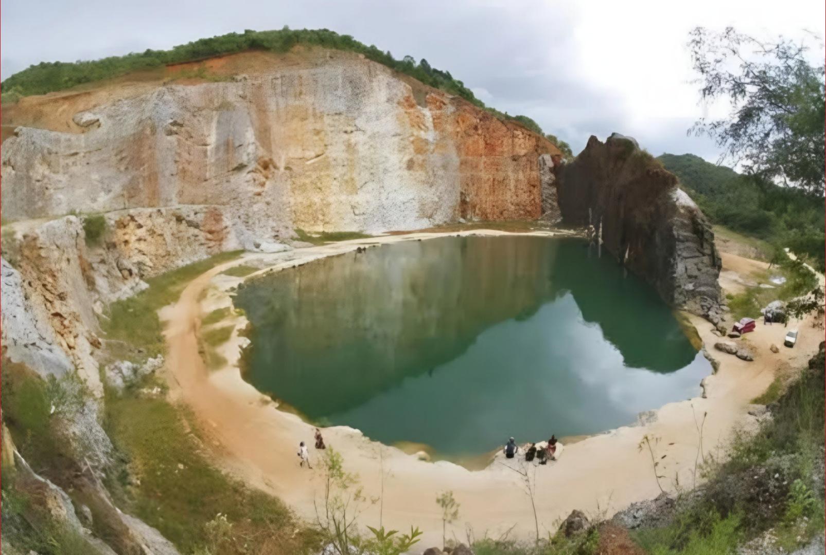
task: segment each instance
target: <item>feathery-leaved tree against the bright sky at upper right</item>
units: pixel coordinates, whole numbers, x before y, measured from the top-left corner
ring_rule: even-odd
[[[728,99],[722,120],[692,128],[724,148],[724,158],[747,173],[823,195],[826,183],[824,64],[813,66],[807,48],[780,37],[763,42],[732,27],[715,33],[696,27],[688,43],[700,74],[703,101]]]

